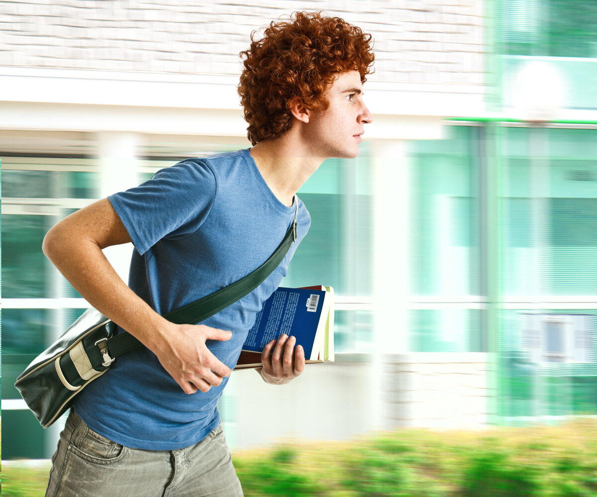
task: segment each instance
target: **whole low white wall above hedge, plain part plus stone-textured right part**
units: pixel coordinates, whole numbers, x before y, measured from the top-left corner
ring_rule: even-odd
[[[480,352],[411,352],[384,355],[377,375],[373,355],[337,354],[336,363],[309,364],[287,385],[267,385],[254,370],[233,372],[220,411],[237,450],[398,427],[483,428],[492,394],[488,367]]]

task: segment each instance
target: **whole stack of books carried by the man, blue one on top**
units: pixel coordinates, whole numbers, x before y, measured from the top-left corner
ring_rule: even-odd
[[[278,287],[257,313],[234,369],[261,367],[263,347],[283,333],[303,346],[306,363],[333,361],[334,289]]]

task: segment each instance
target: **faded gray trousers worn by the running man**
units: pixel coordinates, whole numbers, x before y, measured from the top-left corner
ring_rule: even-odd
[[[46,497],[240,497],[221,425],[178,450],[131,449],[94,432],[71,409]]]

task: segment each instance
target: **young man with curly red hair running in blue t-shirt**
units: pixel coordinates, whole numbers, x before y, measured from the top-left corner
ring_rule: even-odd
[[[253,148],[179,162],[71,214],[44,239],[75,289],[146,346],[77,397],[46,495],[242,495],[216,403],[309,229],[297,190],[326,158],[358,155],[374,60],[370,35],[317,13],[272,22],[251,39],[239,94]],[[260,266],[296,207],[298,243],[256,290],[201,324],[161,317]],[[101,250],[130,241],[127,286]],[[282,335],[266,346],[264,381],[300,375],[304,351],[294,345]]]

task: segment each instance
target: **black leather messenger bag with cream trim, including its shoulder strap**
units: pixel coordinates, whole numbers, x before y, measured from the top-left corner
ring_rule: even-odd
[[[297,204],[295,197],[294,203]],[[259,268],[241,280],[164,315],[177,324],[196,324],[256,289],[282,262],[297,238],[298,205],[284,240]],[[14,384],[42,427],[53,424],[73,399],[113,361],[143,346],[96,309],[88,309],[56,342],[38,355]]]

